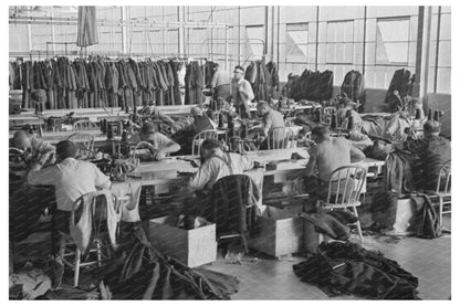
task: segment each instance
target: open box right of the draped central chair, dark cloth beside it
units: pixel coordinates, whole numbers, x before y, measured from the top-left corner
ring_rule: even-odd
[[[303,222],[295,212],[268,207],[258,226],[248,243],[251,249],[275,257],[301,251]]]

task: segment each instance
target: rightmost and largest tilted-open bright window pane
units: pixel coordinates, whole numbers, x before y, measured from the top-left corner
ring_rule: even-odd
[[[376,64],[407,66],[409,34],[409,18],[377,19]]]

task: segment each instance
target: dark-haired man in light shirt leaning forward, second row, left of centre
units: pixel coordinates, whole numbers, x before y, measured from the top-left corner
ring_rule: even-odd
[[[176,152],[180,150],[180,146],[168,137],[157,131],[153,123],[145,123],[140,131],[134,134],[129,138],[129,143],[137,145],[140,141],[147,141],[154,146],[151,157],[154,160],[165,158],[168,152]]]

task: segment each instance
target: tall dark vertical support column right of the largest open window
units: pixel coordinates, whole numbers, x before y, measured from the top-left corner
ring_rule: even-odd
[[[419,7],[417,29],[416,81],[412,96],[421,98],[425,109],[428,108],[428,73],[430,59],[431,7]]]

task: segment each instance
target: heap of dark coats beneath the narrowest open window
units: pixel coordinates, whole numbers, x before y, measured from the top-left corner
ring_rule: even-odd
[[[327,101],[332,98],[334,73],[305,70],[301,76],[293,77],[291,98],[295,101]]]

